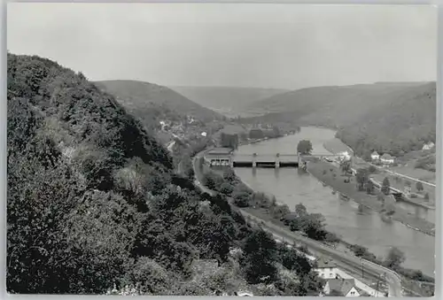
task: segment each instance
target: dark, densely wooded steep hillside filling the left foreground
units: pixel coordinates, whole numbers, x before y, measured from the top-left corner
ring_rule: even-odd
[[[82,73],[12,54],[7,67],[9,292],[318,295],[306,258],[175,175]]]

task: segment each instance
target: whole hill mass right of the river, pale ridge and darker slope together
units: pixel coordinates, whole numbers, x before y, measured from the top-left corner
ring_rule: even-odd
[[[264,99],[249,110],[262,115],[242,122],[337,128],[338,137],[360,154],[368,149],[407,152],[435,140],[432,82],[303,88]]]

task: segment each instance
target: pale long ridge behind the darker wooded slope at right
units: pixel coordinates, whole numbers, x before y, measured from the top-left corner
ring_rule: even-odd
[[[255,113],[293,112],[300,122],[343,126],[361,114],[398,99],[424,83],[377,83],[344,87],[302,88],[249,105]],[[343,113],[344,109],[350,113]]]

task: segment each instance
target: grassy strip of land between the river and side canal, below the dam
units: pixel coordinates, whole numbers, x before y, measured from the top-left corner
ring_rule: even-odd
[[[347,196],[354,202],[368,207],[370,210],[380,212],[384,218],[399,221],[400,223],[410,227],[414,230],[420,231],[426,235],[435,236],[435,224],[425,220],[419,219],[411,215],[400,207],[396,207],[395,212],[391,216],[386,216],[383,213],[383,204],[377,200],[377,196],[369,196],[366,191],[359,191],[355,188],[355,179],[351,178],[349,183],[344,180],[346,177],[341,176],[341,170],[338,167],[327,162],[309,162],[308,173],[311,173],[318,181],[330,186],[333,190],[342,195]],[[334,173],[336,174],[334,176]]]

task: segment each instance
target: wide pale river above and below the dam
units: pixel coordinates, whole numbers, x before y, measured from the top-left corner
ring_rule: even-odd
[[[302,127],[296,135],[238,147],[238,154],[295,153],[300,140],[313,144],[314,154],[329,153],[323,142],[332,139],[335,131],[318,127]],[[367,247],[377,257],[385,258],[390,247],[405,253],[404,266],[419,269],[434,276],[434,237],[410,229],[397,221],[384,221],[369,209],[359,212],[358,204],[340,200],[329,187],[308,173],[295,168],[261,169],[235,168],[237,175],[254,190],[273,194],[277,201],[287,204],[293,211],[302,203],[308,212],[320,212],[326,219],[327,229],[343,240]],[[401,204],[404,206],[405,204]]]

